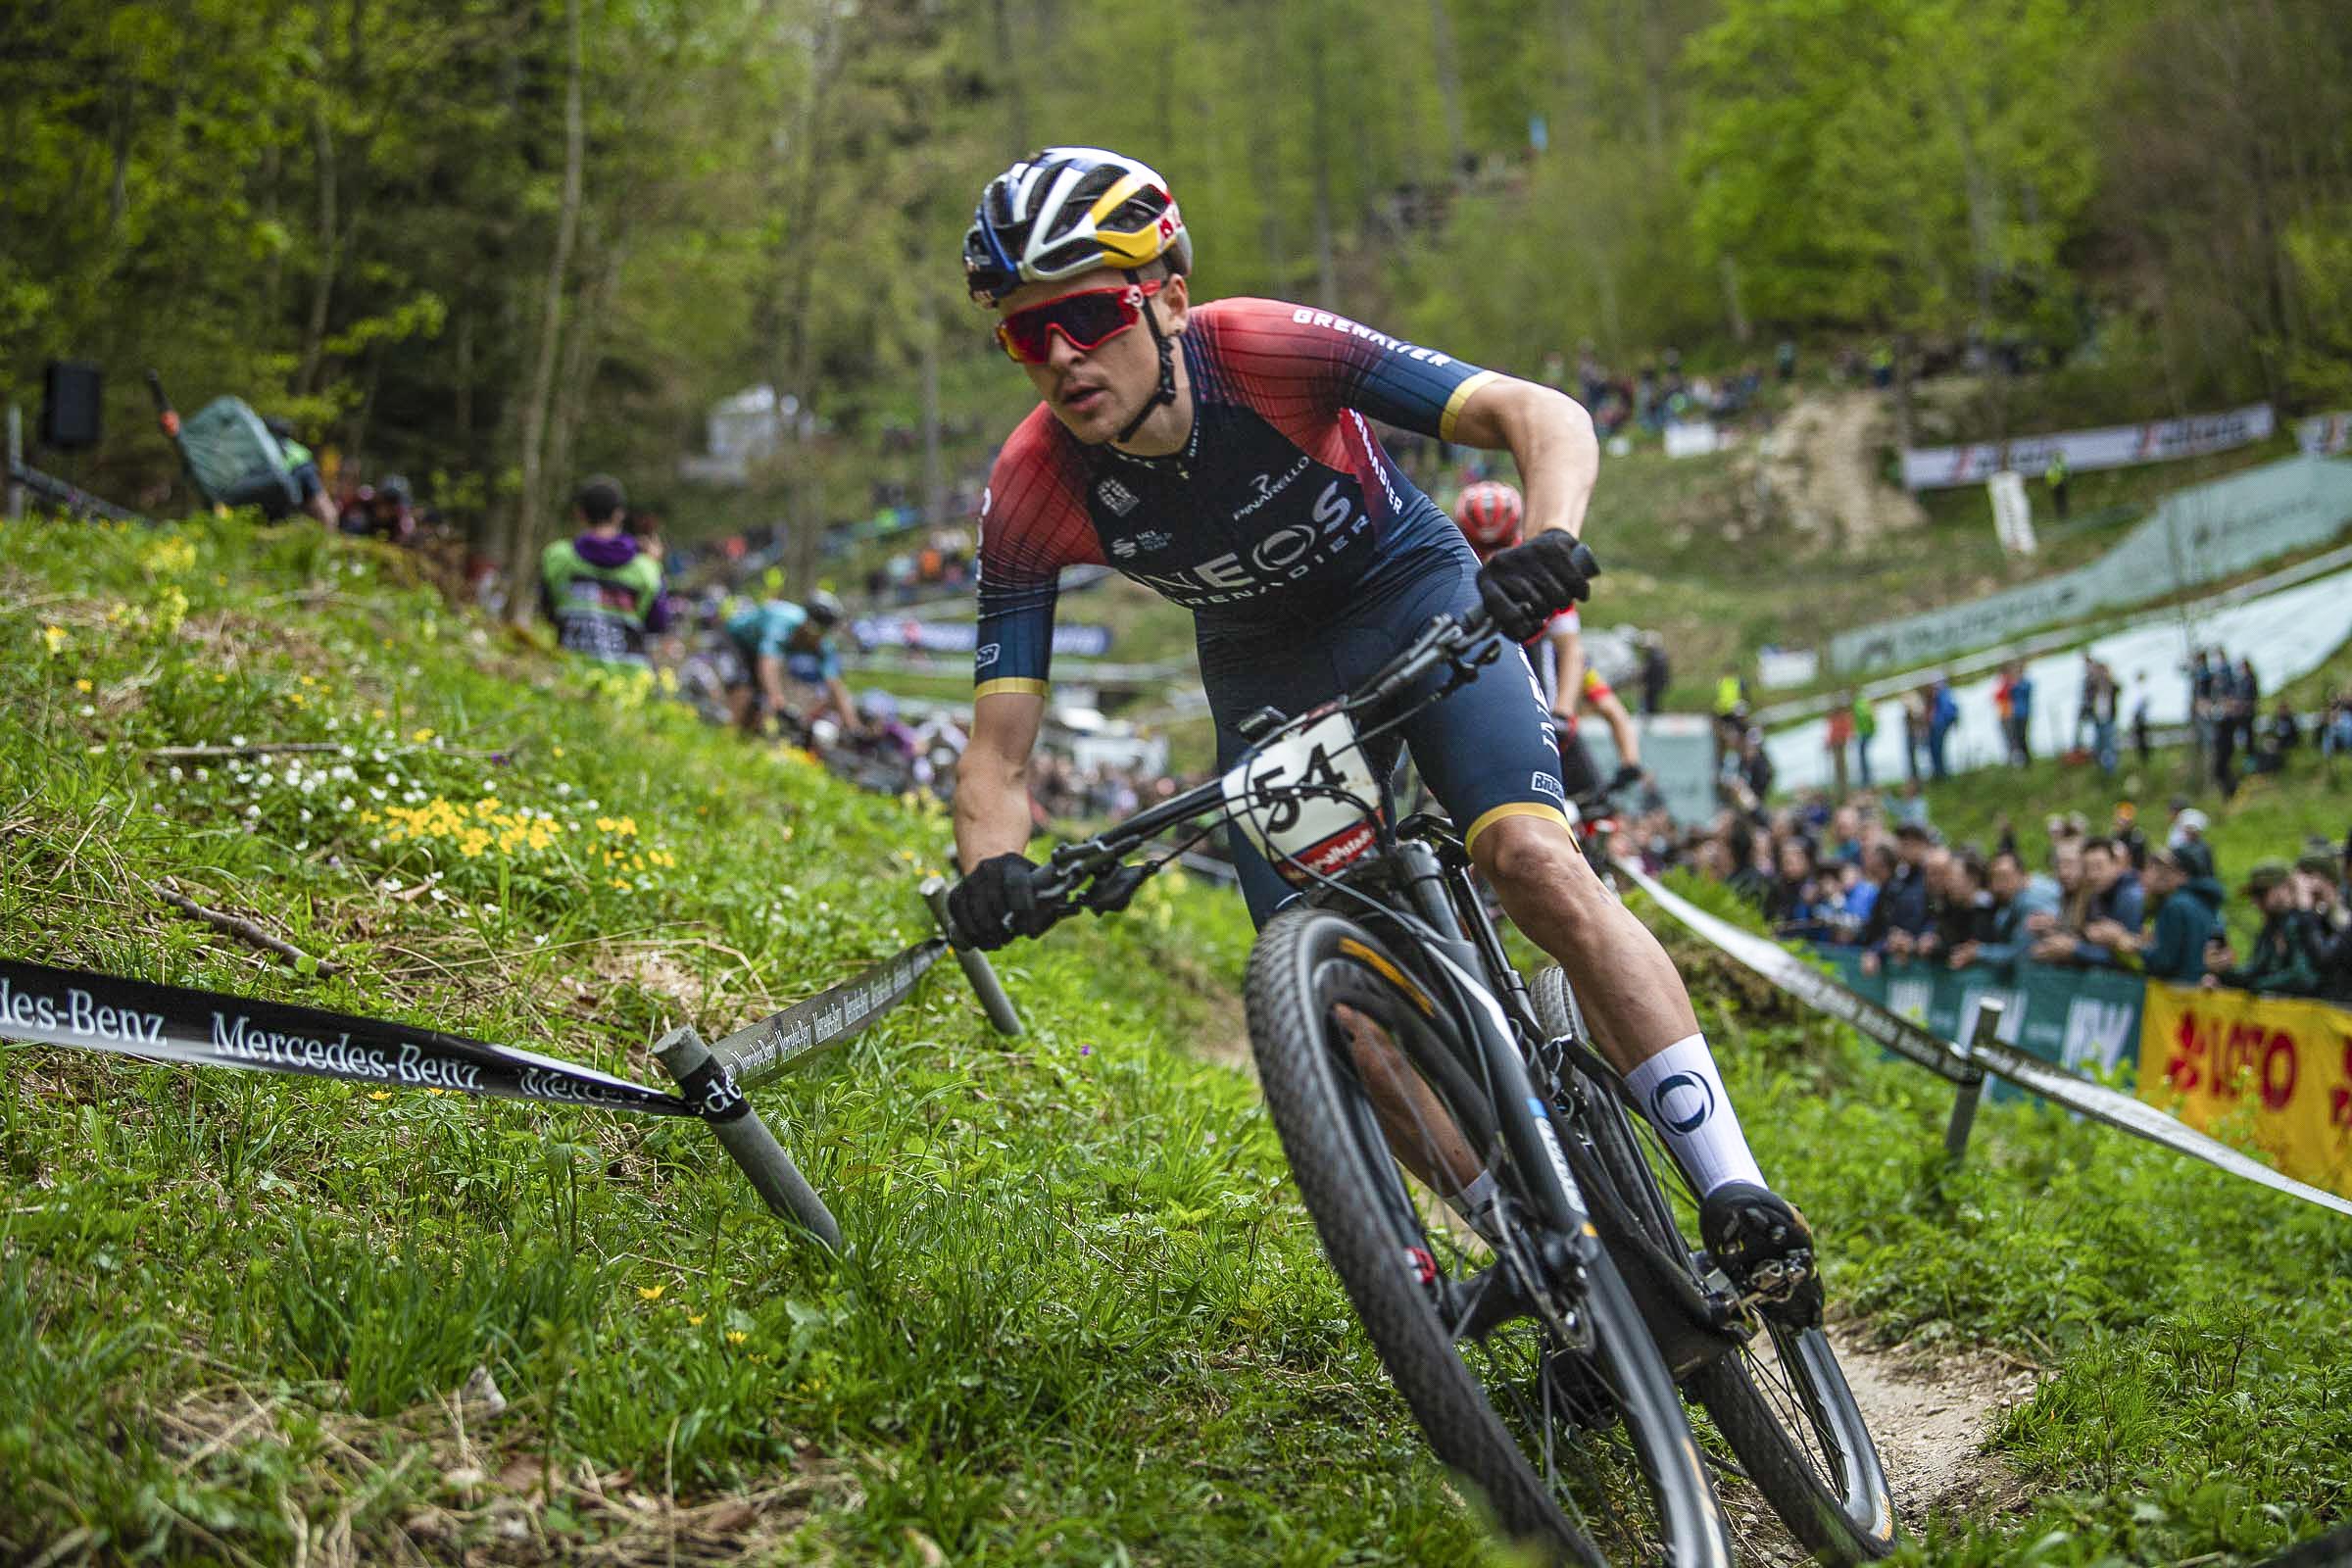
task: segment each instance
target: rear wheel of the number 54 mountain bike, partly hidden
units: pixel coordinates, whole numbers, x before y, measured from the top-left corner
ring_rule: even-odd
[[[1590,1039],[1559,969],[1536,976],[1534,1001],[1545,1034]],[[1653,1239],[1689,1258],[1696,1248],[1686,1227],[1696,1232],[1698,1197],[1646,1121],[1630,1117],[1611,1088],[1588,1081],[1588,1091],[1585,1131],[1595,1154]],[[1698,1368],[1689,1392],[1715,1418],[1738,1458],[1738,1474],[1809,1552],[1835,1563],[1867,1563],[1893,1552],[1886,1472],[1825,1333],[1762,1324],[1738,1354]]]

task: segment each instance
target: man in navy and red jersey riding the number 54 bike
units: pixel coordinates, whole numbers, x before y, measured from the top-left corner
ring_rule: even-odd
[[[1244,717],[1265,705],[1298,715],[1345,691],[1437,614],[1484,604],[1522,642],[1588,592],[1576,534],[1599,447],[1583,407],[1329,310],[1195,306],[1190,270],[1167,181],[1103,148],[1014,165],[981,193],[964,235],[971,299],[997,313],[1000,346],[1040,395],[978,512],[978,684],[955,790],[964,879],[950,905],[985,947],[1049,924],[1021,851],[1063,567],[1112,564],[1195,611],[1218,766],[1247,750]],[[1482,567],[1367,418],[1510,449],[1529,538]],[[1526,661],[1482,665],[1399,731],[1465,823],[1486,884],[1559,959],[1703,1194],[1717,1262],[1776,1293],[1776,1314],[1816,1321],[1811,1232],[1764,1185],[1665,950],[1578,853]],[[1291,889],[1240,835],[1232,849],[1251,917],[1265,922]],[[1468,1208],[1494,1201],[1491,1171],[1458,1180]]]

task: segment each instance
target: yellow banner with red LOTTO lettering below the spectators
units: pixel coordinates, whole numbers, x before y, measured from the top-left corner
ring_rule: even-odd
[[[2352,1013],[2340,1006],[2150,983],[2140,1098],[2352,1197]]]

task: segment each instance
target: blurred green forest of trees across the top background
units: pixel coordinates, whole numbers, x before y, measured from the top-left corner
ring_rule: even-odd
[[[16,0],[0,400],[99,362],[66,473],[118,498],[172,475],[155,367],[416,475],[513,581],[597,468],[788,524],[804,581],[1023,409],[957,242],[1049,141],[1157,165],[1207,296],[1517,374],[1976,339],[2067,423],[2352,397],[2328,0]],[[781,458],[677,484],[755,383]]]

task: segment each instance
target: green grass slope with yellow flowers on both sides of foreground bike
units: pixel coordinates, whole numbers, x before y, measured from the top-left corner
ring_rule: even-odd
[[[922,931],[936,811],[402,571],[301,529],[12,529],[0,952],[659,1084],[668,1025]],[[240,736],[350,755],[148,755]],[[346,971],[174,917],[167,875]],[[0,1556],[1494,1561],[1223,1065],[1244,945],[1235,900],[1155,882],[1007,954],[1028,1037],[941,966],[764,1091],[844,1260],[696,1126],[0,1048]],[[1917,1561],[2251,1556],[2345,1512],[2338,1222],[2006,1107],[1945,1178],[1936,1079],[1691,964],[1835,1293],[2053,1371],[1999,1434],[2032,1512],[1915,1521]]]

